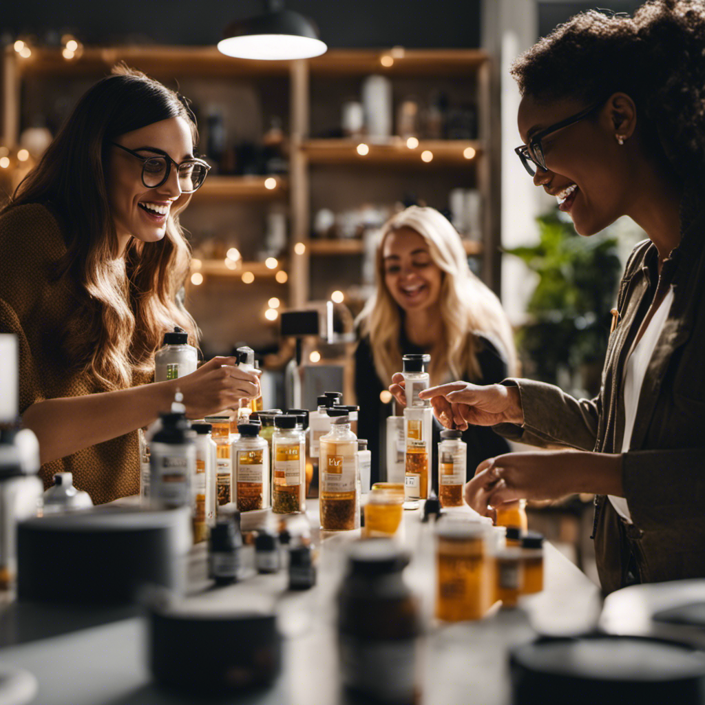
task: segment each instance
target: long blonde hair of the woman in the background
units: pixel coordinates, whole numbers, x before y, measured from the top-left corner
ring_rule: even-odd
[[[384,283],[383,259],[386,236],[400,228],[410,228],[424,238],[431,259],[443,272],[443,335],[431,355],[431,384],[442,384],[449,377],[461,379],[466,372],[473,379],[482,377],[477,335],[496,346],[507,362],[509,374],[513,374],[517,354],[511,326],[496,295],[470,271],[458,231],[436,209],[411,206],[381,228],[376,249],[376,292],[357,319],[362,335],[369,333],[374,367],[382,384],[389,384],[391,376],[402,369],[400,307]]]

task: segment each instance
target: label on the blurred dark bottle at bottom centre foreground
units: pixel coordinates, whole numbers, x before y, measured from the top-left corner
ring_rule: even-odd
[[[380,702],[416,702],[417,644],[340,637],[343,683]]]

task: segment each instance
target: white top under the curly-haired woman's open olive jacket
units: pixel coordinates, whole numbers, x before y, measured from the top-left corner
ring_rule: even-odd
[[[673,287],[668,289],[668,293],[663,298],[661,305],[656,309],[654,315],[646,326],[644,335],[642,335],[639,343],[632,350],[632,354],[627,359],[625,364],[624,377],[624,410],[625,410],[625,426],[624,436],[622,439],[622,453],[626,453],[630,449],[632,442],[632,431],[634,430],[634,421],[637,417],[637,406],[639,405],[639,395],[642,393],[642,384],[644,384],[644,374],[646,368],[649,367],[651,355],[654,354],[656,342],[661,337],[663,324],[666,323],[670,306],[673,303]],[[613,507],[617,510],[620,517],[623,517],[630,524],[632,523],[632,515],[627,505],[627,500],[624,497],[614,497],[609,495]]]

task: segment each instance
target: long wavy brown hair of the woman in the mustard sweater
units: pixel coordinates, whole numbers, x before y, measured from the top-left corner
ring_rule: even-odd
[[[59,217],[66,255],[56,277],[78,298],[64,326],[63,353],[71,367],[84,369],[106,390],[128,387],[135,372],[149,372],[173,326],[197,342],[195,321],[178,300],[191,259],[178,212],[189,200],[172,209],[161,241],[131,238],[121,256],[106,189],[110,143],[175,117],[189,123],[195,145],[188,101],[140,71],[116,66],[82,96],[1,212],[40,203]]]

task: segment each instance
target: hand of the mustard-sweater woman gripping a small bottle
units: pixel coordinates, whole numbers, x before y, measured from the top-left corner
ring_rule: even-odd
[[[240,399],[259,396],[259,376],[237,366],[236,357],[214,357],[196,372],[164,384],[183,394],[186,416],[202,419],[224,409],[237,409]],[[173,396],[172,396],[173,398]]]

